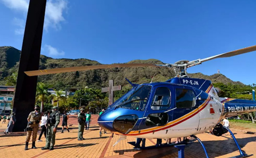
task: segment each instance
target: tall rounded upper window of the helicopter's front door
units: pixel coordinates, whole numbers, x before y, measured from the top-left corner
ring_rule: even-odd
[[[159,87],[156,89],[154,100],[151,105],[152,110],[165,110],[170,106],[171,92],[167,87]]]

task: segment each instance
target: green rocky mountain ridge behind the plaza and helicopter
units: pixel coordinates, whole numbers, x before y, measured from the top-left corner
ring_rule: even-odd
[[[0,47],[0,85],[5,84],[4,77],[11,75],[13,72],[18,72],[19,59],[21,51],[10,47]],[[164,64],[156,59],[149,60],[133,60],[128,63],[152,63]],[[61,67],[74,66],[89,66],[99,65],[97,61],[88,59],[54,59],[45,55],[40,56],[39,69],[52,69]],[[112,68],[99,69],[90,71],[76,71],[60,74],[51,74],[38,76],[38,81],[53,85],[54,88],[60,89],[64,87],[94,87],[101,88],[108,86],[108,80],[114,79],[115,85],[128,85],[125,77],[134,83],[150,82],[155,75],[154,81],[166,81],[175,76],[175,73],[170,68]],[[241,82],[234,82],[222,74],[214,74],[211,76],[203,75],[202,73],[189,74],[191,78],[202,78],[212,80],[213,83],[223,82],[224,84],[244,85]]]

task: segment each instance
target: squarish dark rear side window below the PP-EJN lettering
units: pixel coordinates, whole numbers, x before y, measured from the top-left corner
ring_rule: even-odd
[[[176,89],[176,107],[192,108],[195,107],[196,97],[192,90]]]

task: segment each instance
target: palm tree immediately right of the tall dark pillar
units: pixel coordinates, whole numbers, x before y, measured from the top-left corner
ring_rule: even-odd
[[[36,100],[41,101],[41,112],[43,111],[43,103],[49,96],[48,92],[49,85],[42,82],[38,82],[36,86]]]

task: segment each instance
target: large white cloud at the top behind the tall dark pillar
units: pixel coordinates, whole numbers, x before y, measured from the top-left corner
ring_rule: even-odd
[[[2,3],[18,12],[22,12],[24,14],[24,21],[26,19],[26,15],[28,12],[28,5],[29,0],[0,0]],[[55,28],[57,30],[61,29],[61,22],[65,21],[65,18],[63,17],[63,12],[67,9],[67,0],[49,0],[46,2],[46,9],[45,9],[45,17],[44,17],[44,30],[48,30],[49,27]],[[17,18],[14,18],[14,21]],[[24,24],[25,26],[25,24]],[[15,30],[15,33],[21,33],[21,29],[19,28]]]

